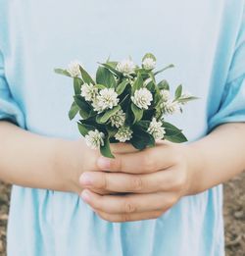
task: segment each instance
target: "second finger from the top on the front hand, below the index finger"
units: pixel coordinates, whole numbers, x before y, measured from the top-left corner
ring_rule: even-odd
[[[176,190],[181,186],[181,175],[173,169],[145,175],[86,172],[80,176],[82,187],[114,192],[153,193]]]

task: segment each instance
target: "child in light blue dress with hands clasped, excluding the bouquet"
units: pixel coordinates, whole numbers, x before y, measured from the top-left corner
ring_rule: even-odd
[[[0,179],[14,184],[9,256],[221,256],[223,181],[245,168],[245,3],[0,0]],[[153,52],[200,100],[176,115],[190,143],[115,160],[67,118],[80,59]],[[115,194],[115,193],[122,194]],[[126,193],[125,192],[130,192]],[[137,221],[137,222],[134,222]]]

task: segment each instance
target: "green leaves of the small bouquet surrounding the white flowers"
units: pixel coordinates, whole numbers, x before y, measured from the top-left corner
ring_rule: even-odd
[[[166,115],[165,110],[163,109],[164,99],[161,90],[170,91],[171,86],[166,79],[160,81],[157,81],[156,79],[157,75],[171,69],[173,65],[169,65],[157,72],[154,72],[154,69],[146,70],[143,66],[143,62],[146,58],[151,58],[155,62],[157,61],[152,53],[146,53],[142,58],[141,65],[135,66],[135,69],[129,75],[117,70],[119,62],[110,61],[108,59],[105,63],[99,63],[100,65],[97,69],[95,80],[93,80],[81,66],[79,66],[80,76],[72,77],[74,95],[73,104],[69,111],[69,118],[70,120],[73,120],[76,115],[80,116],[81,120],[79,120],[77,126],[82,136],[85,136],[89,130],[97,129],[100,132],[103,132],[104,138],[103,136],[102,138],[104,143],[101,143],[100,152],[105,157],[114,158],[110,149],[110,143],[117,143],[119,141],[115,138],[116,133],[119,131],[119,127],[112,127],[112,122],[110,121],[112,116],[114,116],[114,119],[116,117],[116,120],[121,120],[121,122],[122,119],[125,119],[123,120],[123,126],[132,130],[132,137],[126,142],[131,143],[138,150],[155,145],[153,135],[148,132],[148,128],[153,118],[156,118],[157,122],[161,122],[162,127],[165,128],[166,133],[163,139],[170,140],[174,143],[187,141],[181,129],[165,122]],[[55,69],[55,73],[71,77],[68,70]],[[84,93],[91,93],[88,94],[92,95],[88,97],[90,101],[85,100],[87,97],[81,96],[81,89],[84,83],[93,85],[82,90],[82,95],[84,95]],[[108,90],[108,92],[116,93],[119,104],[116,105],[114,103],[114,105],[111,105],[102,112],[95,111],[94,106],[97,106],[98,97],[101,97],[102,95],[99,94],[99,92],[103,89],[105,92],[107,91],[107,88],[114,88],[113,92],[111,90]],[[153,96],[153,101],[148,109],[142,109],[141,106],[135,105],[131,100],[131,96],[135,96],[135,91],[140,88],[148,89]],[[90,91],[90,89],[92,91]],[[110,93],[108,94],[109,98],[105,98],[103,104],[106,104],[107,101],[110,102]],[[172,102],[179,104],[179,108],[182,111],[182,105],[195,99],[198,98],[189,94],[184,94],[182,85],[180,84],[174,91]],[[147,99],[142,99],[142,101],[144,100]],[[122,115],[122,111],[123,116],[117,116]]]

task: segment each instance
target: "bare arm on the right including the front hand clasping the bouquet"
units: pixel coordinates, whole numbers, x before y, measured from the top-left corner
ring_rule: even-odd
[[[138,153],[98,159],[101,171],[84,173],[81,196],[112,222],[155,219],[182,196],[196,194],[245,169],[245,124],[226,124],[191,144],[160,141]],[[130,192],[99,195],[93,189]]]

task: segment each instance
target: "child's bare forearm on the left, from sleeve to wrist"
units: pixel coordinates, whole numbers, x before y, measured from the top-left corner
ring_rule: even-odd
[[[0,141],[0,179],[27,187],[71,188],[66,176],[73,163],[71,141],[33,134],[7,122],[0,122]]]

